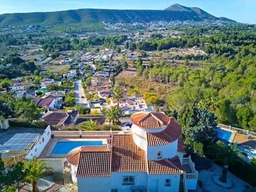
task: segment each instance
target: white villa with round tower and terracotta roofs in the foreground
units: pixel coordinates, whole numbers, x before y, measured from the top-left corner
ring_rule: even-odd
[[[197,171],[186,154],[174,117],[155,111],[131,115],[132,132],[115,134],[108,145],[71,150],[67,161],[78,191],[195,190]]]

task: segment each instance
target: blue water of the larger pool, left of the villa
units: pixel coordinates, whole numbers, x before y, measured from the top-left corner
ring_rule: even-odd
[[[68,154],[70,150],[85,145],[102,145],[102,141],[57,141],[51,154]]]

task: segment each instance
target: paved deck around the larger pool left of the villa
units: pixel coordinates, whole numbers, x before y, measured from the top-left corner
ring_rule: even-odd
[[[45,146],[42,153],[39,155],[39,158],[45,159],[45,158],[66,158],[67,154],[51,154],[51,151],[53,150],[55,144],[58,141],[102,141],[103,145],[107,144],[107,139],[109,137],[86,137],[86,138],[80,138],[80,137],[54,137],[49,140],[47,145]]]

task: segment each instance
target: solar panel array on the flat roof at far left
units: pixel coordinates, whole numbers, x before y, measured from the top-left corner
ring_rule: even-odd
[[[25,150],[38,136],[38,133],[17,133],[0,147],[0,151]]]

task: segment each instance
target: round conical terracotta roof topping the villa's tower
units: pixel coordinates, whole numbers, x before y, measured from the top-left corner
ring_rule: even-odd
[[[170,118],[163,113],[146,111],[131,115],[131,121],[144,129],[159,129],[168,125]]]

